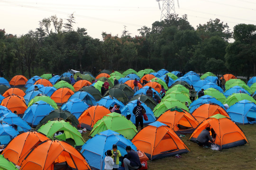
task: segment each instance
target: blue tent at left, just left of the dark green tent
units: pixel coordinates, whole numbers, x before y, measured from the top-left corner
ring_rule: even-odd
[[[55,109],[50,104],[44,101],[38,101],[27,108],[22,119],[31,127],[36,127],[39,122],[53,110]]]

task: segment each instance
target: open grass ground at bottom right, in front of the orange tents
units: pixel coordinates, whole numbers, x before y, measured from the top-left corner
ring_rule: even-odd
[[[148,170],[256,170],[256,125],[240,127],[250,144],[213,151],[188,141],[190,134],[187,134],[182,140],[191,152],[182,154],[181,159],[168,157],[148,161]],[[87,135],[84,138],[88,140]]]

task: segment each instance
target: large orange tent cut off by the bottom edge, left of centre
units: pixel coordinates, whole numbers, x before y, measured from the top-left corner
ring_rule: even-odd
[[[46,140],[37,145],[21,163],[20,170],[54,170],[58,163],[65,163],[76,170],[91,170],[82,154],[70,144]]]

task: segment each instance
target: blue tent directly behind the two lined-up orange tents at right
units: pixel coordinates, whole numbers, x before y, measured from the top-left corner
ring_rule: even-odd
[[[214,97],[212,97],[210,95],[204,95],[190,104],[189,111],[192,114],[193,111],[196,110],[197,108],[199,108],[201,105],[210,104],[210,103],[217,104],[220,107],[222,107],[223,109],[225,109],[224,105],[221,102],[219,102],[217,99],[215,99]]]

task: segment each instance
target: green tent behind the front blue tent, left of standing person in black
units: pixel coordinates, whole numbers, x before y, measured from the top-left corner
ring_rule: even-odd
[[[91,130],[90,136],[95,136],[109,129],[118,132],[128,139],[132,139],[138,132],[135,125],[130,120],[119,113],[113,112],[97,121]]]

